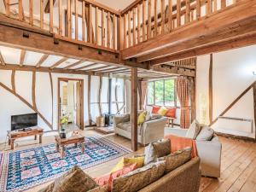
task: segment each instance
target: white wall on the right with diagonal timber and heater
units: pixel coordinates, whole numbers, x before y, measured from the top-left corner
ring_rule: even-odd
[[[212,62],[212,113],[213,119],[239,96],[243,90],[256,80],[253,71],[256,71],[256,46],[248,46],[241,49],[233,49],[213,54]],[[208,77],[210,55],[200,56],[197,59],[196,72],[196,108],[197,119],[201,119],[201,95],[207,97],[207,122],[208,119]],[[243,137],[255,137],[253,90],[249,90],[245,96],[231,108],[224,117],[253,119],[253,130],[249,123],[218,119],[212,128],[216,131],[229,133]]]

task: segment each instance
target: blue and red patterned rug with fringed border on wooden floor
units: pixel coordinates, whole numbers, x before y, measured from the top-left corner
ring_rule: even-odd
[[[60,177],[74,165],[86,169],[130,152],[131,150],[98,136],[85,137],[84,154],[81,153],[80,146],[67,146],[63,159],[55,151],[55,143],[5,152],[0,154],[0,191],[24,191]]]

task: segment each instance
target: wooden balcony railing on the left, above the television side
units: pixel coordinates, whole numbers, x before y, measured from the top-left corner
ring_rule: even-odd
[[[119,51],[120,14],[101,3],[92,0],[0,1],[3,1],[4,15],[47,30],[55,38]]]

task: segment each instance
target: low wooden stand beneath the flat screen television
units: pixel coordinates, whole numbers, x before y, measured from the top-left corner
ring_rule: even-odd
[[[37,137],[39,135],[39,143],[42,143],[42,136],[43,136],[43,129],[40,127],[34,127],[34,128],[26,128],[19,131],[7,131],[7,137],[8,137],[8,143],[11,147],[11,149],[15,148],[15,139],[22,138],[22,137],[30,137],[34,136],[35,140],[37,140]]]

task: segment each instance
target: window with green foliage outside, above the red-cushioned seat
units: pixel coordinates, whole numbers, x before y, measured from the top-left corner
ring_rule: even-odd
[[[176,106],[175,79],[148,82],[148,105]]]

